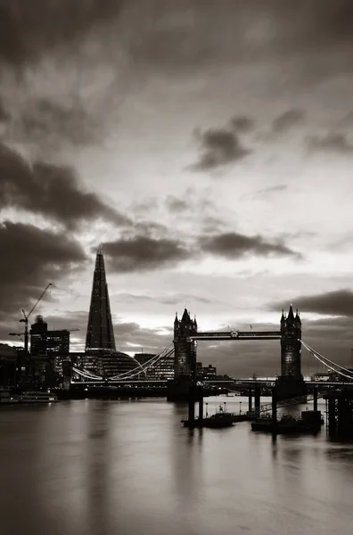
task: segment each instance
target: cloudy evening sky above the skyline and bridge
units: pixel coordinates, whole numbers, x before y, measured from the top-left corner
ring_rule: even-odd
[[[0,0],[0,341],[78,328],[103,244],[117,349],[276,329],[353,367],[350,0]],[[303,373],[322,371],[303,350]],[[278,342],[200,342],[221,373]]]

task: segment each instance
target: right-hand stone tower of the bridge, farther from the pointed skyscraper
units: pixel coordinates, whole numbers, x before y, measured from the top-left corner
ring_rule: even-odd
[[[277,380],[280,399],[295,398],[306,393],[301,374],[301,321],[297,309],[294,316],[292,306],[288,316],[281,317],[281,375]]]

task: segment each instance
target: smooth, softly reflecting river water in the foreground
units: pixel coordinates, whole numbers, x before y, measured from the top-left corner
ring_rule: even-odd
[[[246,399],[206,399],[246,409]],[[324,411],[324,404],[319,404]],[[164,399],[0,410],[2,535],[351,535],[353,445],[193,433]]]

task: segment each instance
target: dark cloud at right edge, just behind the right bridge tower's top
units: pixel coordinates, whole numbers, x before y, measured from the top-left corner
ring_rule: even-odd
[[[316,295],[305,295],[296,297],[295,301],[303,312],[353,317],[353,292],[351,290],[344,289]],[[278,303],[270,305],[272,310],[277,308]]]

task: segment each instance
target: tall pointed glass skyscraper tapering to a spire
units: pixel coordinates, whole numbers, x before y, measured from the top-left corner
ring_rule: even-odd
[[[98,247],[95,259],[91,306],[89,309],[86,350],[115,349],[114,332],[111,322],[108,284],[105,279],[103,249]]]

